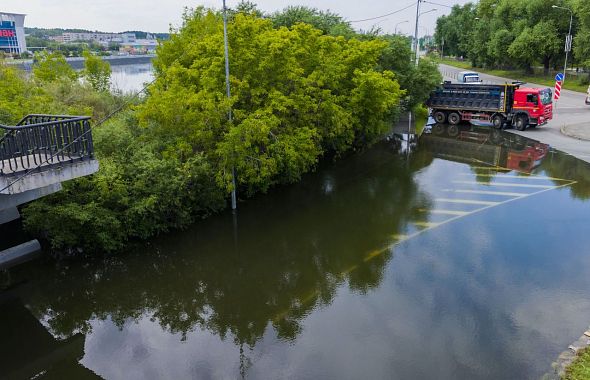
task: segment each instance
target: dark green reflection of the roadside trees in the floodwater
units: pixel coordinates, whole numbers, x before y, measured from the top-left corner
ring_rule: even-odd
[[[21,275],[34,286],[22,297],[64,336],[97,318],[122,327],[149,316],[183,339],[201,328],[252,346],[269,324],[294,339],[344,283],[359,293],[380,284],[392,253],[364,258],[424,217],[417,210],[430,202],[412,173],[430,162],[372,149],[242,205],[237,242],[227,215],[210,218],[125,257],[57,273],[31,267]]]

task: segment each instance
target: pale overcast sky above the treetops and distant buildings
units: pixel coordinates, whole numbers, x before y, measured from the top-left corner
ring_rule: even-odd
[[[274,12],[290,5],[306,5],[331,10],[346,20],[363,20],[388,14],[410,6],[407,10],[376,20],[354,22],[355,29],[368,30],[376,26],[384,32],[397,30],[413,34],[416,19],[415,0],[251,0],[264,12]],[[468,0],[432,0],[437,4],[465,4]],[[239,0],[227,0],[232,7]],[[103,32],[142,30],[152,33],[168,32],[170,25],[179,26],[184,7],[221,8],[222,0],[2,0],[0,12],[24,13],[25,26],[40,28],[81,28]],[[419,34],[434,33],[436,19],[449,14],[450,8],[422,4],[421,12],[435,11],[420,17]]]

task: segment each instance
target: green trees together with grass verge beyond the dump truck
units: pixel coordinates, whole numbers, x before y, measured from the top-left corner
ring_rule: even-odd
[[[590,2],[586,0],[481,0],[456,5],[437,20],[436,45],[444,55],[463,61],[443,63],[553,85],[555,72],[563,71],[565,61],[567,9],[573,12],[574,38],[568,67],[584,73],[575,75],[568,69],[565,88],[585,91],[590,71]]]

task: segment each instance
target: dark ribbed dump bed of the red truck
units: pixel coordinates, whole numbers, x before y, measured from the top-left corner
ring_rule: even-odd
[[[437,110],[506,112],[512,108],[515,88],[513,84],[445,83],[430,94],[426,105]]]

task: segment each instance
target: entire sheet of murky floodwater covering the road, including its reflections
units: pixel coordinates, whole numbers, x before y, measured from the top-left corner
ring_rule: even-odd
[[[589,215],[590,166],[547,145],[391,136],[235,216],[12,270],[0,377],[539,378],[590,323]]]

